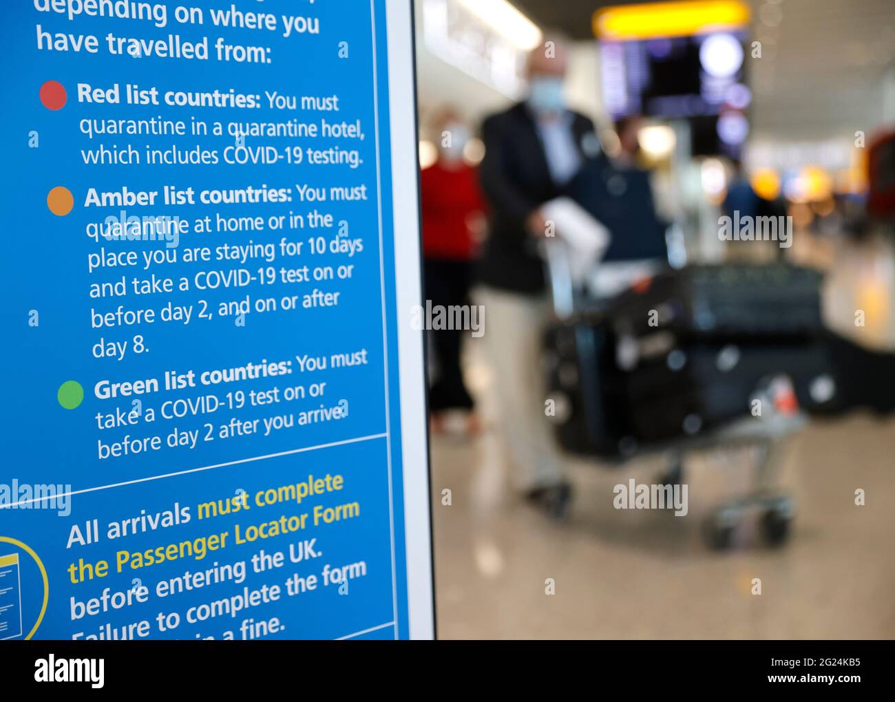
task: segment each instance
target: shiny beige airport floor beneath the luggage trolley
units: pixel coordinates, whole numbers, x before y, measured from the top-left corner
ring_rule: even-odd
[[[482,391],[487,368],[475,355],[473,385]],[[857,414],[812,423],[784,461],[783,482],[797,504],[788,544],[756,545],[747,521],[737,546],[715,553],[703,546],[701,521],[746,486],[742,454],[688,461],[686,517],[613,508],[613,486],[654,482],[655,461],[620,470],[573,461],[575,507],[556,524],[509,494],[492,431],[474,440],[435,437],[439,636],[895,638],[893,449],[895,419]],[[864,506],[855,504],[857,488]],[[760,595],[752,592],[755,578]],[[545,593],[548,579],[555,594]]]

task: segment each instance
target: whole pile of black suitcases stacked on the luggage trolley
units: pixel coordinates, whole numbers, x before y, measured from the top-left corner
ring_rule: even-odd
[[[656,275],[547,335],[559,443],[626,457],[753,411],[788,376],[800,402],[829,373],[821,275],[788,265],[690,266]]]

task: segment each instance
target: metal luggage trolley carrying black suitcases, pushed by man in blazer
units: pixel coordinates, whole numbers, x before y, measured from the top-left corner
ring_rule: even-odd
[[[559,444],[567,451],[598,458],[618,468],[647,456],[664,455],[667,467],[657,479],[659,485],[683,482],[687,453],[742,449],[751,463],[750,488],[746,494],[712,510],[703,522],[703,538],[713,549],[732,546],[737,526],[746,513],[757,510],[764,541],[771,546],[783,544],[789,535],[794,505],[792,498],[780,490],[780,458],[788,439],[807,423],[805,413],[798,409],[788,376],[769,368],[768,376],[756,385],[752,396],[762,402],[759,416],[746,406],[742,416],[718,427],[704,431],[691,427],[695,431],[689,433],[685,427],[680,437],[668,441],[642,443],[632,436],[612,436],[611,431],[601,436],[601,430],[612,423],[611,416],[607,416],[611,412],[601,416],[596,406],[599,398],[595,397],[597,393],[612,397],[611,390],[601,383],[598,359],[600,344],[607,343],[606,338],[599,337],[601,329],[609,326],[605,309],[610,299],[575,290],[569,253],[563,242],[550,241],[543,248],[556,317],[545,336],[543,360],[548,397],[555,407],[551,419],[556,424]],[[602,354],[606,352],[604,349]],[[615,353],[618,354],[618,348]]]

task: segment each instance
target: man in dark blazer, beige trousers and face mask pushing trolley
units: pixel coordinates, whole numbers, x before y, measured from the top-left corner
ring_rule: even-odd
[[[544,412],[539,364],[548,314],[538,240],[547,232],[540,207],[575,176],[593,144],[593,124],[567,109],[567,47],[550,40],[529,56],[524,102],[491,115],[482,128],[482,190],[491,207],[482,253],[482,304],[490,366],[516,483],[527,498],[561,517],[571,487]]]

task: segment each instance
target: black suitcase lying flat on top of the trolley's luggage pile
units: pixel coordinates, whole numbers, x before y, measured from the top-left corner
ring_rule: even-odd
[[[623,292],[607,314],[619,336],[810,336],[823,326],[821,277],[787,264],[687,266]]]

